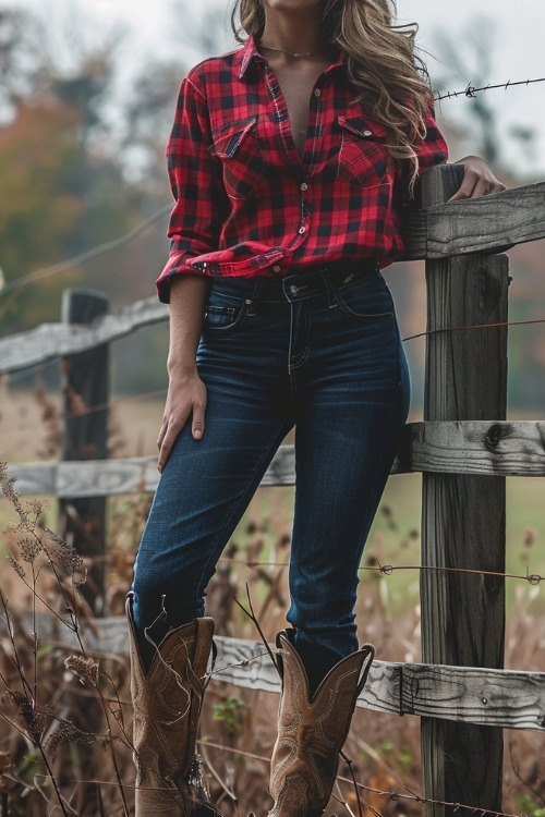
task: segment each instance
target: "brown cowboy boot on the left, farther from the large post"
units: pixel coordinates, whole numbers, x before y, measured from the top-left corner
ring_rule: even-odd
[[[195,619],[167,633],[146,672],[131,601],[129,597],[135,817],[218,815],[195,753],[214,619]]]

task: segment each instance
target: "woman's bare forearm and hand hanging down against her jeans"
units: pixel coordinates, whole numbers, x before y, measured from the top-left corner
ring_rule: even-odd
[[[157,440],[161,472],[174,440],[187,423],[199,440],[205,429],[206,387],[198,377],[196,351],[203,328],[208,281],[201,276],[173,276],[170,283],[169,388]]]

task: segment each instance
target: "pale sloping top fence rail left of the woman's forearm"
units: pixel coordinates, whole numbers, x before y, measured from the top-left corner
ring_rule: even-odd
[[[168,318],[168,306],[155,297],[136,301],[90,326],[43,324],[0,340],[0,373],[16,371],[64,355],[110,343],[136,329]]]

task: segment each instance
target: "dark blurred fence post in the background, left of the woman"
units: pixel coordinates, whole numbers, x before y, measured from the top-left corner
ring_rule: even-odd
[[[108,310],[106,295],[93,290],[68,290],[62,298],[62,321],[89,325]],[[105,460],[109,400],[108,344],[62,359],[64,401],[63,460]],[[60,503],[60,533],[77,552],[88,557],[82,596],[96,615],[105,614],[106,498],[64,498]]]

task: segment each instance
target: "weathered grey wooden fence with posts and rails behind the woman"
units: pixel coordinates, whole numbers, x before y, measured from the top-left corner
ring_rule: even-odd
[[[408,230],[407,257],[426,259],[425,408],[422,423],[405,427],[392,473],[423,473],[423,663],[375,661],[359,702],[422,717],[423,800],[434,817],[458,810],[445,804],[501,812],[501,730],[545,731],[545,673],[502,668],[505,477],[545,476],[545,420],[506,420],[508,259],[498,255],[545,237],[545,183],[446,203],[460,173],[451,164],[424,174],[423,209],[411,215]],[[95,293],[87,315],[73,298],[63,322],[1,340],[0,371],[65,358],[63,390],[70,401],[95,377],[105,379],[111,342],[167,318],[155,298],[108,314]],[[88,356],[97,349],[98,367]],[[106,405],[104,394],[84,402],[96,406],[100,400]],[[104,460],[96,428],[71,434],[68,428],[73,446],[65,442],[62,461],[10,467],[21,493],[52,495],[70,507],[154,491],[153,459]],[[82,450],[88,459],[78,455]],[[282,447],[263,485],[293,481],[293,450]],[[100,535],[87,542],[88,552],[98,552]],[[124,622],[99,620],[98,633],[97,648],[125,650]],[[219,678],[278,690],[263,645],[231,638],[218,645],[218,664],[225,668]]]

